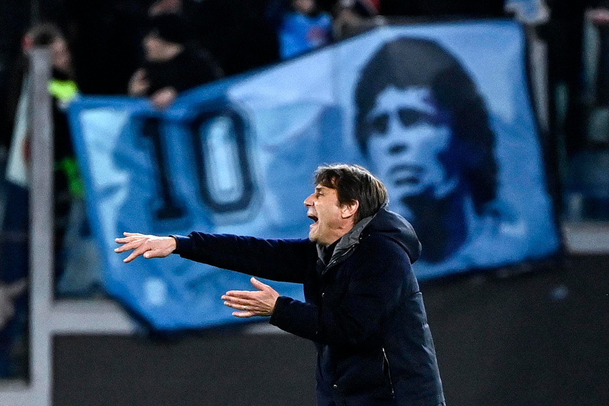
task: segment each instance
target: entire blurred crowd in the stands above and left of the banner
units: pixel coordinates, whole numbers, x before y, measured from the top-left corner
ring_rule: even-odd
[[[77,94],[128,94],[169,107],[197,85],[297,57],[388,18],[444,19],[524,13],[549,52],[549,93],[566,89],[562,131],[568,153],[586,137],[582,88],[586,10],[599,27],[601,59],[597,99],[609,103],[609,10],[599,1],[569,0],[7,0],[0,5],[0,377],[23,376],[15,343],[26,330],[29,118],[27,54],[52,49],[55,131],[55,267],[72,228],[88,236],[83,186],[72,149],[65,108]],[[506,7],[509,5],[509,7]],[[522,6],[522,7],[520,7]],[[525,17],[526,16],[526,17]],[[38,23],[33,24],[33,21]],[[196,67],[196,68],[195,68]],[[551,112],[561,100],[549,97]],[[77,220],[75,220],[75,218]]]

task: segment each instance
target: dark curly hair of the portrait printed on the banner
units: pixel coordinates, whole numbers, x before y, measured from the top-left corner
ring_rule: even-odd
[[[440,158],[446,170],[459,172],[468,181],[476,212],[484,211],[497,193],[495,133],[470,75],[434,41],[403,37],[384,44],[362,69],[355,91],[355,136],[364,155],[371,132],[367,116],[389,86],[431,89],[435,102],[451,117],[453,136],[448,153]]]

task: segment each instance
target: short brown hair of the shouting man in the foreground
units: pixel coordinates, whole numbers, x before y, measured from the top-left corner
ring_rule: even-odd
[[[385,185],[359,165],[319,166],[315,170],[315,184],[336,189],[340,205],[359,201],[355,223],[376,214],[382,205],[389,202]]]

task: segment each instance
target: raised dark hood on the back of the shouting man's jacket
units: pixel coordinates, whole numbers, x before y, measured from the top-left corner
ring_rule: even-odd
[[[384,234],[394,240],[408,253],[410,264],[414,264],[421,255],[421,243],[412,225],[400,214],[387,210],[386,206],[371,217],[362,234]]]

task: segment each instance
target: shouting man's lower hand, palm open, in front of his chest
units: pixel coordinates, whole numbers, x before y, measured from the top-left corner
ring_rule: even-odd
[[[224,304],[233,309],[240,310],[233,312],[236,317],[270,316],[275,310],[275,303],[279,293],[269,285],[265,285],[256,278],[250,279],[252,285],[258,290],[250,292],[248,290],[229,290],[222,296]]]

